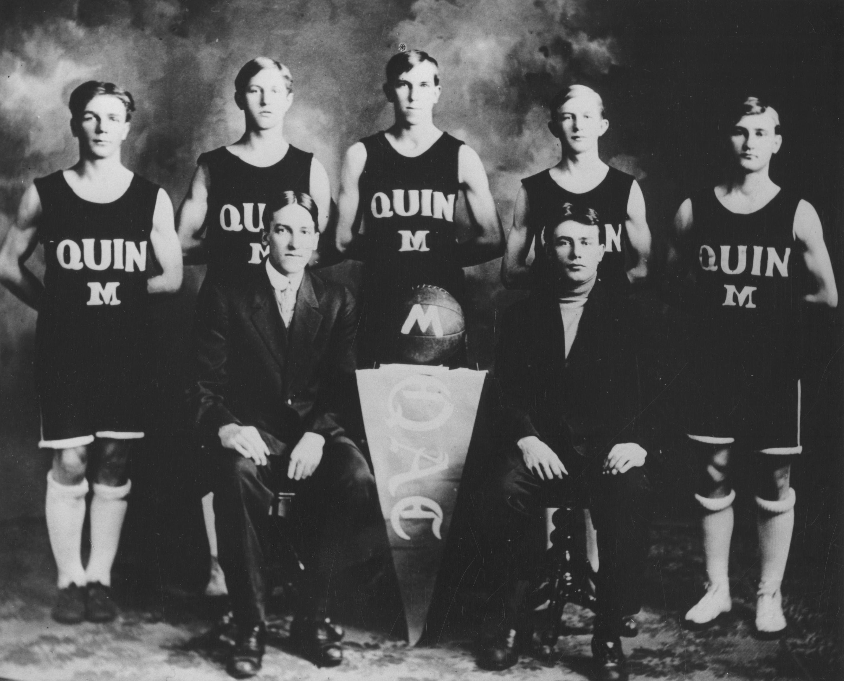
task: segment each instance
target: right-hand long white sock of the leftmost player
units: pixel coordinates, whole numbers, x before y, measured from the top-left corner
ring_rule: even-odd
[[[99,581],[111,586],[111,565],[120,543],[123,518],[126,517],[129,490],[132,480],[121,487],[94,484],[94,499],[91,500],[91,557],[85,576],[88,581]]]

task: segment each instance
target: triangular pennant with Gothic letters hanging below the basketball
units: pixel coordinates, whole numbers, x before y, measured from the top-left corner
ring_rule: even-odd
[[[411,646],[425,628],[485,376],[419,365],[357,371]]]

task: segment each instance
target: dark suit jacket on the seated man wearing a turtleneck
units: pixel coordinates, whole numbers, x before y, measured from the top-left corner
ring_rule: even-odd
[[[665,310],[592,289],[568,358],[555,296],[533,293],[501,322],[495,381],[509,446],[536,435],[560,457],[603,460],[619,442],[657,446],[670,382]],[[565,459],[564,459],[565,460]]]

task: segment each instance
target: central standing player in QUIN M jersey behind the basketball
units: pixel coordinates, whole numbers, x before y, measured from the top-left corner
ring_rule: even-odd
[[[463,268],[503,250],[478,154],[434,125],[441,94],[436,60],[424,51],[398,53],[387,62],[384,94],[395,122],[353,144],[340,174],[336,246],[341,253],[354,246],[365,263],[360,365],[394,360],[392,338],[401,321],[393,310],[408,289],[440,286],[465,304]],[[473,236],[458,243],[454,208],[460,191]]]

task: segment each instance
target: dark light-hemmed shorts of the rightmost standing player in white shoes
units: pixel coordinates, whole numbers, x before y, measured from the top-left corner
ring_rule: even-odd
[[[697,354],[684,380],[684,430],[691,440],[788,455],[800,445],[795,358]]]

